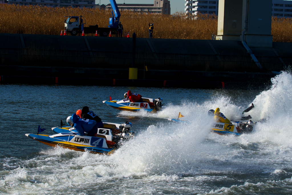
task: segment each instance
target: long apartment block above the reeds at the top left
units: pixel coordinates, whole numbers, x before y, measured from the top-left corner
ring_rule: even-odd
[[[8,4],[95,8],[95,1],[87,0],[9,0]]]

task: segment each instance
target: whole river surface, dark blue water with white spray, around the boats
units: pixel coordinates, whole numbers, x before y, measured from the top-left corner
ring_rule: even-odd
[[[0,85],[0,194],[292,194],[292,76],[266,90]],[[158,113],[119,111],[103,100],[128,90],[162,98]],[[251,134],[210,132],[208,110],[248,114]],[[135,137],[111,156],[50,147],[25,136],[88,106],[103,122],[133,124]],[[168,118],[178,113],[189,124]],[[247,113],[245,113],[247,115]]]

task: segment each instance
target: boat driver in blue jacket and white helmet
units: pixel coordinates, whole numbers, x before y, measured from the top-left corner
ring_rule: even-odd
[[[87,136],[94,136],[98,130],[98,124],[95,120],[89,120],[84,118],[79,118],[75,113],[72,116],[68,116],[66,122],[71,127],[75,127],[78,134],[84,136],[84,133],[87,133]]]

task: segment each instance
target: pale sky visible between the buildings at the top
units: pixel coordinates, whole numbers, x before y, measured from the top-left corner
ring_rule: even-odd
[[[95,0],[96,4],[109,4],[109,0]],[[117,4],[154,4],[154,0],[116,0]],[[170,0],[170,12],[171,14],[176,11],[185,12],[185,0]]]

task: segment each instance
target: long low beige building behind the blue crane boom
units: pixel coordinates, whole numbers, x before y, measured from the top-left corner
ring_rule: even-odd
[[[117,4],[119,11],[133,11],[138,13],[170,14],[170,1],[155,0],[154,4]],[[111,4],[106,9],[112,9]]]

